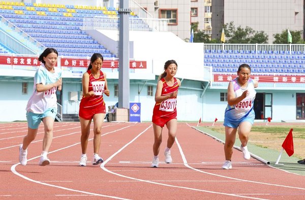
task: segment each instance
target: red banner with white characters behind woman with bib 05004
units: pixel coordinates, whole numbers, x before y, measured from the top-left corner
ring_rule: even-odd
[[[237,75],[214,74],[214,82],[229,82],[236,78]],[[305,83],[304,75],[287,75],[287,74],[269,74],[269,75],[251,75],[251,78],[258,82],[283,82],[283,83]]]

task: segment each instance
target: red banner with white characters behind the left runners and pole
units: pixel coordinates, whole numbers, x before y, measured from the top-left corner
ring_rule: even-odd
[[[90,64],[88,59],[60,58],[61,67],[85,67]],[[0,65],[40,66],[36,57],[0,55]],[[130,69],[146,69],[146,61],[129,61]],[[118,68],[118,60],[104,60],[103,68]]]

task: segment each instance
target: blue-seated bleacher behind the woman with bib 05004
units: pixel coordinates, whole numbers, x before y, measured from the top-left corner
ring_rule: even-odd
[[[305,52],[302,51],[243,51],[209,50],[204,53],[205,66],[213,72],[236,73],[242,63],[255,73],[305,73]]]

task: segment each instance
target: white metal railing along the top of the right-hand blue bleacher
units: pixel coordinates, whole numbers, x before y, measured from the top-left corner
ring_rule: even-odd
[[[224,51],[241,51],[247,53],[247,51],[254,51],[255,53],[266,51],[268,53],[280,53],[285,52],[292,54],[293,52],[304,52],[305,44],[204,44],[204,50],[210,50],[211,52],[224,52]]]

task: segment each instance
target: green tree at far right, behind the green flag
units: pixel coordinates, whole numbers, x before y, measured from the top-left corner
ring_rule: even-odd
[[[304,44],[304,40],[301,38],[302,31],[291,31],[289,30],[292,36],[292,43],[293,44]],[[275,37],[275,41],[273,41],[273,44],[288,44],[288,31],[283,30],[280,34],[273,34],[273,37]]]

